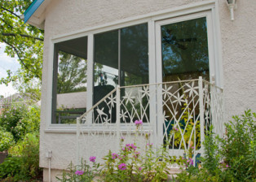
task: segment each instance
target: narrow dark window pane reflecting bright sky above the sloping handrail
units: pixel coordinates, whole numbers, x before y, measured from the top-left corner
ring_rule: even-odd
[[[95,35],[94,104],[118,84],[118,30]]]

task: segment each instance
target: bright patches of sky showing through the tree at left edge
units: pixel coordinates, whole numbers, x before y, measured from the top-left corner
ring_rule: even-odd
[[[17,58],[11,58],[4,53],[5,44],[0,43],[0,78],[7,76],[7,70],[16,72],[20,68]],[[17,91],[10,85],[0,85],[0,95],[5,97],[16,93]]]

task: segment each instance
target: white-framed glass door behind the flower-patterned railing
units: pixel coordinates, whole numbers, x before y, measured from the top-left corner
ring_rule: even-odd
[[[156,23],[157,82],[167,82],[157,90],[157,140],[169,145],[170,149],[177,149],[177,154],[192,145],[184,139],[188,122],[192,132],[196,131],[193,124],[199,124],[198,105],[194,102],[197,96],[191,97],[186,90],[187,87],[198,87],[197,82],[180,81],[198,79],[199,76],[210,81],[210,75],[214,74],[211,29],[209,12]],[[173,131],[178,139],[171,137]]]

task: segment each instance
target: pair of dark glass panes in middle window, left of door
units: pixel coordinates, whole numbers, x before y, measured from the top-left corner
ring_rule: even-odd
[[[117,85],[148,84],[148,24],[139,24],[96,34],[94,67],[94,104],[104,98]],[[138,90],[126,88],[121,89],[121,98],[126,93],[132,93],[135,98],[139,97]],[[146,101],[137,101],[135,106],[130,106],[130,103],[127,103],[127,106],[122,106],[121,110],[126,111],[126,115],[135,112],[137,115],[134,119],[143,119],[146,114],[139,109],[141,102]],[[101,103],[99,110],[104,112],[101,117],[108,120],[110,115],[115,115],[115,107],[113,106],[112,111],[108,111],[108,106]],[[137,109],[132,111],[132,108]],[[148,113],[149,110],[147,109],[146,112]],[[95,118],[99,116],[97,111],[94,115]],[[114,123],[115,120],[113,117],[111,123]]]

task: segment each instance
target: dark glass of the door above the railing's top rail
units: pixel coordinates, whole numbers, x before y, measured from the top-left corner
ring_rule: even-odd
[[[161,26],[163,81],[209,80],[206,18]]]

